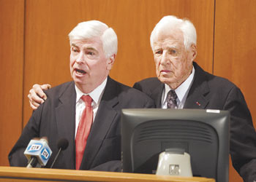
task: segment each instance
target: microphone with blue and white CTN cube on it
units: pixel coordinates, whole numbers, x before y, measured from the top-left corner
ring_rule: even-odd
[[[24,154],[29,160],[26,167],[44,167],[50,159],[52,151],[48,146],[48,141],[41,138],[39,141],[31,140]]]

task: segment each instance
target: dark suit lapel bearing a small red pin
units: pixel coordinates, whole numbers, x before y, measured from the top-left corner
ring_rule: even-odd
[[[197,63],[193,63],[195,67],[195,77],[192,87],[189,90],[184,108],[200,108],[204,109],[208,105],[208,98],[206,95],[210,92],[208,83],[205,79],[205,74]]]

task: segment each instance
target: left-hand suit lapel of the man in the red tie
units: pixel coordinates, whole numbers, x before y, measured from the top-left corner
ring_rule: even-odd
[[[56,123],[58,127],[59,138],[66,138],[69,141],[69,147],[64,151],[64,161],[67,166],[75,169],[75,84],[71,82],[59,96],[59,106],[56,108]],[[58,139],[57,139],[58,140]]]

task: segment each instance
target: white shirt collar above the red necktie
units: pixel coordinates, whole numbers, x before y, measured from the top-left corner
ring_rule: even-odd
[[[95,103],[97,106],[99,106],[99,102],[102,98],[103,91],[105,90],[105,86],[107,84],[108,77],[102,82],[102,84],[99,84],[99,86],[89,92],[89,94],[83,93],[76,85],[75,85],[75,92],[77,93],[76,103],[80,100],[82,95],[90,95],[90,97],[93,100],[93,104]],[[94,106],[93,106],[94,107]]]

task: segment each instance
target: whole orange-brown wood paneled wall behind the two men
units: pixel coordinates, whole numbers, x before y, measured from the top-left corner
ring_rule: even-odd
[[[71,80],[67,34],[86,20],[116,31],[118,54],[110,76],[132,86],[155,76],[149,44],[154,25],[164,15],[188,17],[197,28],[197,63],[241,87],[256,119],[255,5],[252,0],[0,0],[0,165],[9,165],[7,154],[31,116],[31,86]],[[230,181],[241,181],[232,167]]]

